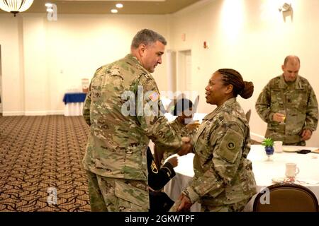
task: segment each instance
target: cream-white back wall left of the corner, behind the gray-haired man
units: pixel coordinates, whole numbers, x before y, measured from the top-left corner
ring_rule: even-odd
[[[69,88],[82,78],[130,52],[138,30],[150,28],[167,37],[167,16],[0,15],[4,115],[63,114]],[[169,44],[167,46],[169,48]],[[166,90],[166,60],[154,77]]]

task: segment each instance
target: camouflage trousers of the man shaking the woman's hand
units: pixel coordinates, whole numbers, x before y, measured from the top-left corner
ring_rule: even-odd
[[[86,171],[92,212],[147,212],[150,206],[145,181],[101,177]]]

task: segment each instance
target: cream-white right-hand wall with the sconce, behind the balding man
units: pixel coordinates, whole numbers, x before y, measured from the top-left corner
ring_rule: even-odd
[[[193,57],[193,89],[201,94],[198,110],[211,112],[204,88],[211,74],[220,68],[240,71],[246,81],[254,83],[254,95],[243,100],[242,107],[252,109],[251,131],[264,135],[267,125],[254,108],[264,85],[281,73],[284,57],[301,58],[301,76],[310,81],[319,96],[319,1],[291,0],[293,22],[284,22],[279,0],[216,0],[186,8],[174,14],[170,34],[175,51],[191,49]],[[181,41],[181,34],[186,41]],[[203,41],[209,49],[203,49]],[[252,121],[254,123],[252,123]],[[319,133],[313,133],[308,145],[319,146]]]

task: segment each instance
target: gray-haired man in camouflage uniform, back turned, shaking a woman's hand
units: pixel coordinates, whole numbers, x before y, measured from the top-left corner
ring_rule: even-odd
[[[147,155],[150,139],[167,150],[186,153],[161,114],[154,78],[167,44],[162,35],[140,30],[131,53],[101,66],[92,78],[84,103],[90,126],[84,168],[88,174],[92,211],[147,211]]]

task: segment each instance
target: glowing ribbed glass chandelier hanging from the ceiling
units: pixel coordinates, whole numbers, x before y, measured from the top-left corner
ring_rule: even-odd
[[[33,4],[33,0],[0,0],[0,8],[9,13],[26,11]]]

